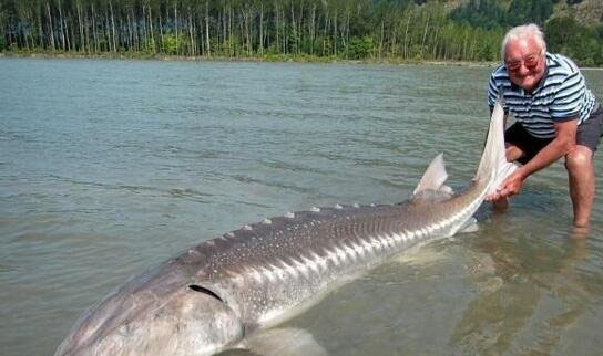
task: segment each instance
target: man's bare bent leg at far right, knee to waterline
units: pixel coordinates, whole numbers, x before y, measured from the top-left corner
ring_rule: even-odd
[[[594,200],[595,178],[593,151],[582,145],[565,155],[565,168],[570,180],[570,197],[574,208],[574,226],[586,227]]]

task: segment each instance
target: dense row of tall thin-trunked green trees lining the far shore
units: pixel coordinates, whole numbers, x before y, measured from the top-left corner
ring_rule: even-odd
[[[0,52],[498,61],[504,32],[534,22],[551,52],[603,65],[601,19],[560,2],[581,0],[0,0]]]

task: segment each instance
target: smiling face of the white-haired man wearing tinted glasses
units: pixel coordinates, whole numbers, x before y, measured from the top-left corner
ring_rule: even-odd
[[[511,82],[532,92],[545,70],[544,50],[532,36],[512,40],[507,43],[504,65]]]

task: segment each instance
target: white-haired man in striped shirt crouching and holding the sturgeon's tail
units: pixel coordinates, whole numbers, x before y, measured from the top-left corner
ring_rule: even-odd
[[[535,24],[511,29],[502,41],[502,60],[490,77],[488,102],[503,98],[517,122],[507,129],[507,159],[523,166],[488,200],[505,208],[525,178],[565,157],[574,226],[587,227],[595,193],[593,154],[600,142],[603,111],[578,66],[546,52]],[[507,117],[507,116],[505,116]]]

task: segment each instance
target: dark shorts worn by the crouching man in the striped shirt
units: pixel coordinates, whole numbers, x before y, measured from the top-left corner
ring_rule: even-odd
[[[575,136],[575,143],[589,147],[593,154],[596,151],[596,147],[603,135],[603,108],[601,105],[597,106],[599,107],[591,113],[589,119],[578,127]],[[504,132],[504,140],[523,150],[524,155],[518,159],[518,161],[525,165],[544,148],[544,146],[549,145],[553,138],[534,137],[530,135],[520,123],[514,123]]]

